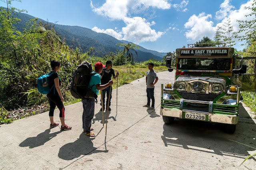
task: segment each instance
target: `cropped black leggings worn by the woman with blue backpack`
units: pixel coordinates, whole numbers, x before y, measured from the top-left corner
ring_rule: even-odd
[[[57,95],[47,94],[47,97],[49,98],[49,103],[50,103],[49,116],[53,116],[54,109],[57,106],[58,109],[60,110],[60,117],[65,117],[65,107],[63,105],[63,102],[60,99],[60,96],[58,94]]]

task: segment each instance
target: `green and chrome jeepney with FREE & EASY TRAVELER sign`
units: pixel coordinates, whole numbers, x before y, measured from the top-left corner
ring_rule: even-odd
[[[175,117],[224,123],[223,130],[234,133],[241,92],[256,91],[255,59],[225,46],[189,44],[188,48],[176,49],[176,56],[166,57],[170,72],[175,63],[175,80],[161,84],[160,115],[164,123],[172,123]]]

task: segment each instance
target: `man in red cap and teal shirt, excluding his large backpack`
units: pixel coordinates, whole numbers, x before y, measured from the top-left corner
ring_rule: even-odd
[[[107,88],[108,86],[112,86],[113,80],[110,80],[108,83],[101,85],[100,83],[100,73],[103,70],[103,67],[105,67],[102,63],[97,62],[94,66],[95,71],[92,73],[96,72],[98,74],[93,74],[88,88],[91,88],[94,93],[98,95],[99,90],[103,90]],[[82,121],[83,121],[83,129],[85,135],[89,137],[95,137],[95,134],[92,133],[91,131],[94,130],[91,128],[92,125],[92,119],[94,117],[94,107],[95,107],[95,99],[93,97],[88,97],[88,98],[82,98],[82,104],[83,104],[83,116],[82,116]]]

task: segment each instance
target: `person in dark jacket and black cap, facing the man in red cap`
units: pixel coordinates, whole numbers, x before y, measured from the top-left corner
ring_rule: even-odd
[[[116,72],[116,76],[115,76],[114,69],[112,68],[112,61],[108,60],[106,62],[106,68],[103,68],[103,71],[100,75],[101,75],[101,84],[106,84],[106,83],[108,83],[108,81],[111,80],[112,76],[113,76],[114,79],[116,79],[119,76],[119,72]],[[106,93],[107,93],[107,100],[106,100],[106,104],[105,104]],[[109,94],[110,94],[110,96],[109,96]],[[108,100],[109,100],[108,110],[109,111],[111,110],[111,108],[110,108],[111,98],[112,98],[112,88],[111,88],[111,91],[110,91],[110,86],[108,86],[107,88],[102,90],[103,110],[105,110],[105,106],[108,105]],[[100,105],[102,106],[102,103],[100,103]],[[100,111],[102,111],[102,108],[100,109]]]

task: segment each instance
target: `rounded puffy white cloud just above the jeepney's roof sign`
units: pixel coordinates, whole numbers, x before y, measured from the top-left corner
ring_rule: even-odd
[[[185,28],[190,29],[185,33],[186,38],[198,41],[203,36],[214,36],[216,29],[213,27],[213,22],[209,21],[211,18],[212,15],[206,15],[204,12],[198,16],[192,15],[184,25]]]

